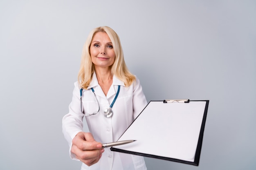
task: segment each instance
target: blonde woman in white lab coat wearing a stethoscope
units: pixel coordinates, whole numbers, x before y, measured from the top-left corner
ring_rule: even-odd
[[[124,62],[117,33],[108,26],[92,30],[83,47],[63,134],[72,159],[82,170],[146,170],[143,157],[103,149],[117,141],[146,106],[139,80]],[[83,117],[90,132],[83,132]]]

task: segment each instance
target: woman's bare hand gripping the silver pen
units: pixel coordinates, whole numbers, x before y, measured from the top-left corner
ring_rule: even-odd
[[[88,166],[97,163],[104,149],[102,144],[95,141],[89,132],[79,132],[72,140],[71,152],[76,158]]]

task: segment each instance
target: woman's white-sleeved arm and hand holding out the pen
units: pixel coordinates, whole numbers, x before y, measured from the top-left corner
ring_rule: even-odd
[[[69,113],[62,120],[63,134],[70,146],[70,157],[91,166],[99,161],[104,149],[101,149],[101,143],[95,141],[91,133],[83,132],[80,89],[77,83],[74,85]]]

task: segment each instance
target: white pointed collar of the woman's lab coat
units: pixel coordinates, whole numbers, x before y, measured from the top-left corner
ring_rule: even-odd
[[[113,75],[113,82],[112,82],[112,85],[110,86],[110,88],[108,90],[107,98],[109,98],[112,95],[115,95],[117,93],[117,86],[118,85],[124,86],[124,82],[122,82],[115,75]],[[96,95],[99,95],[101,97],[106,97],[105,94],[103,93],[101,87],[99,86],[99,82],[98,82],[95,71],[92,75],[92,81],[90,82],[90,85],[88,86],[88,88],[94,88],[94,91],[95,91]]]

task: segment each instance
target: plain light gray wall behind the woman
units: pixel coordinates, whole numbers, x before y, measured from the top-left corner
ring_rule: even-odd
[[[148,170],[256,169],[255,17],[254,0],[1,0],[0,169],[80,169],[61,119],[103,25],[148,102],[210,100],[199,166],[146,158]]]

